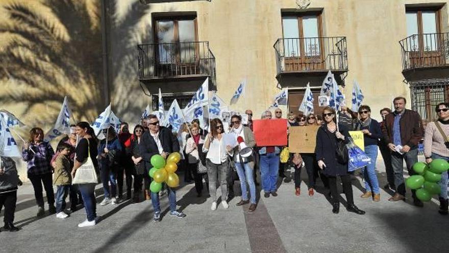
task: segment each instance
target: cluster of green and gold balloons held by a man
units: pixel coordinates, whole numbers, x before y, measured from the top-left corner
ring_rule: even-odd
[[[181,155],[174,152],[168,155],[167,160],[162,155],[153,155],[151,157],[151,165],[153,168],[149,170],[148,174],[153,178],[149,190],[157,193],[162,189],[162,182],[165,181],[168,187],[178,187],[179,177],[176,173],[178,170],[177,163],[181,160]]]

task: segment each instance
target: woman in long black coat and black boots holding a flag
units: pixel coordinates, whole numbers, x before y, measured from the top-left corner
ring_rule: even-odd
[[[336,150],[339,142],[347,143],[349,133],[343,125],[335,123],[335,110],[332,107],[323,109],[322,117],[325,124],[320,126],[316,134],[316,160],[322,173],[329,179],[329,188],[332,196],[332,212],[338,214],[340,210],[339,194],[337,190],[337,176],[343,183],[344,194],[346,195],[348,212],[365,214],[354,204],[353,188],[351,185],[351,175],[347,172],[347,161],[343,163],[337,157]]]

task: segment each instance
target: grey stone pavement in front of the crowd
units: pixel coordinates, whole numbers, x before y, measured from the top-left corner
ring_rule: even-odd
[[[382,160],[378,160],[380,185],[385,184]],[[287,173],[290,174],[290,173]],[[260,177],[259,177],[260,178]],[[258,178],[258,180],[259,180]],[[305,170],[302,178],[306,179]],[[287,180],[288,181],[288,180]],[[151,201],[97,206],[101,221],[93,227],[78,228],[84,209],[60,220],[55,215],[36,218],[37,208],[30,184],[19,189],[17,233],[0,233],[0,252],[448,252],[449,216],[437,213],[433,200],[424,208],[406,202],[389,202],[382,190],[381,201],[361,199],[363,182],[354,177],[356,205],[366,215],[332,214],[324,195],[294,195],[293,181],[280,181],[279,196],[260,198],[255,213],[248,205],[230,208],[219,205],[210,210],[210,201],[197,198],[194,186],[177,191],[178,207],[187,217],[166,215],[167,198],[162,198],[165,216],[154,223]],[[237,188],[238,182],[235,187]],[[318,186],[322,186],[318,179]],[[103,199],[97,187],[98,203]],[[340,189],[341,190],[341,189]],[[323,192],[318,187],[319,192]],[[259,191],[260,192],[260,191]],[[344,197],[344,195],[341,195]],[[3,217],[3,212],[0,214]]]

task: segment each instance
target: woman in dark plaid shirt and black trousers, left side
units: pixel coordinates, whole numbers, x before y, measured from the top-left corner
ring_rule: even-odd
[[[45,214],[42,184],[47,194],[48,210],[51,214],[56,213],[51,166],[55,151],[48,142],[43,141],[43,137],[44,132],[41,128],[32,128],[28,142],[23,145],[22,149],[22,158],[27,162],[27,175],[34,188],[34,196],[38,206],[37,216]]]

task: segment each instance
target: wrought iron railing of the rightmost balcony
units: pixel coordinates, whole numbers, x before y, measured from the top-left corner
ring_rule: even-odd
[[[404,71],[449,66],[449,33],[414,34],[399,43]]]

